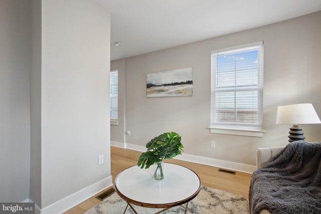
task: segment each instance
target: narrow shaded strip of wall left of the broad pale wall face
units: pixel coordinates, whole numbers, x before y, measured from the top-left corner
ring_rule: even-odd
[[[41,206],[41,4],[32,0],[32,52],[30,73],[30,195]]]

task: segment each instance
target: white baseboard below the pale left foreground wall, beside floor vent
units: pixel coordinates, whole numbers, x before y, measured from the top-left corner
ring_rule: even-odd
[[[35,204],[35,214],[63,213],[112,185],[112,176],[108,176],[97,183],[87,186],[65,198],[62,198],[61,200],[56,201],[55,203],[50,204],[49,206],[44,207],[43,209]],[[31,199],[29,199],[29,201],[33,202]]]

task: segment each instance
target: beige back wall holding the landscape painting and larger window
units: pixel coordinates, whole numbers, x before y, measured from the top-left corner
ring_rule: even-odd
[[[182,135],[187,154],[256,165],[258,147],[287,144],[291,125],[276,125],[279,105],[312,103],[321,116],[321,12],[243,32],[111,62],[126,73],[126,143],[144,146],[168,131]],[[191,29],[192,30],[192,29]],[[263,137],[212,134],[210,126],[211,51],[264,42]],[[156,42],[156,41],[155,41]],[[124,63],[124,65],[120,65]],[[192,97],[146,98],[146,74],[192,67]],[[320,141],[321,124],[301,125],[307,141]],[[124,139],[117,132],[115,139]],[[111,138],[113,141],[113,138]],[[216,148],[210,148],[210,141]]]

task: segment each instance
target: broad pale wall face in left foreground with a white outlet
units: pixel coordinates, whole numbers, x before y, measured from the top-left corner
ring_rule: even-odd
[[[45,209],[108,177],[111,181],[106,99],[109,7],[98,0],[74,3],[42,2],[41,208]],[[98,155],[104,155],[103,165],[98,165]]]

